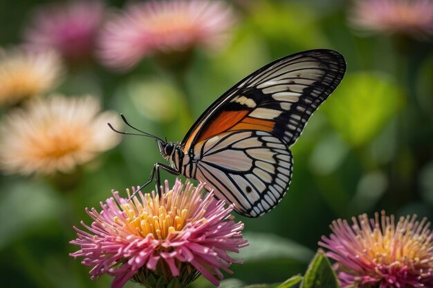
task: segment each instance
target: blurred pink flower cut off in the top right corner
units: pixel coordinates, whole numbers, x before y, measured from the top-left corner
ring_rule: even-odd
[[[355,0],[349,21],[370,32],[433,36],[432,0]]]

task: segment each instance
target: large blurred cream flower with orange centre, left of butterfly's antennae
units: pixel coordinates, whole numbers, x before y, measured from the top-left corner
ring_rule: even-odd
[[[71,173],[113,148],[120,136],[107,122],[97,98],[53,95],[10,112],[0,126],[0,166],[8,173]]]

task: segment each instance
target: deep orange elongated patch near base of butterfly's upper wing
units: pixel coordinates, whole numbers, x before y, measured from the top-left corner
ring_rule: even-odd
[[[210,122],[210,125],[207,128],[201,131],[197,142],[230,130],[230,128],[238,124],[239,121],[241,121],[248,113],[250,113],[250,110],[221,112],[214,119],[212,119],[212,122]],[[195,133],[192,133],[192,135],[195,135]],[[190,140],[188,140],[188,142],[189,141]]]

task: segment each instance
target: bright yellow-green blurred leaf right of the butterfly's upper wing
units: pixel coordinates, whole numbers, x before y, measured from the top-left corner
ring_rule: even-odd
[[[402,104],[402,91],[379,73],[352,73],[324,105],[331,124],[351,146],[372,140]]]

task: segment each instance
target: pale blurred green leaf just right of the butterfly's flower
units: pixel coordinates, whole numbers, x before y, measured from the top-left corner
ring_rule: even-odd
[[[313,251],[297,242],[266,233],[244,233],[248,239],[248,247],[241,250],[244,262],[290,259],[308,262]]]

